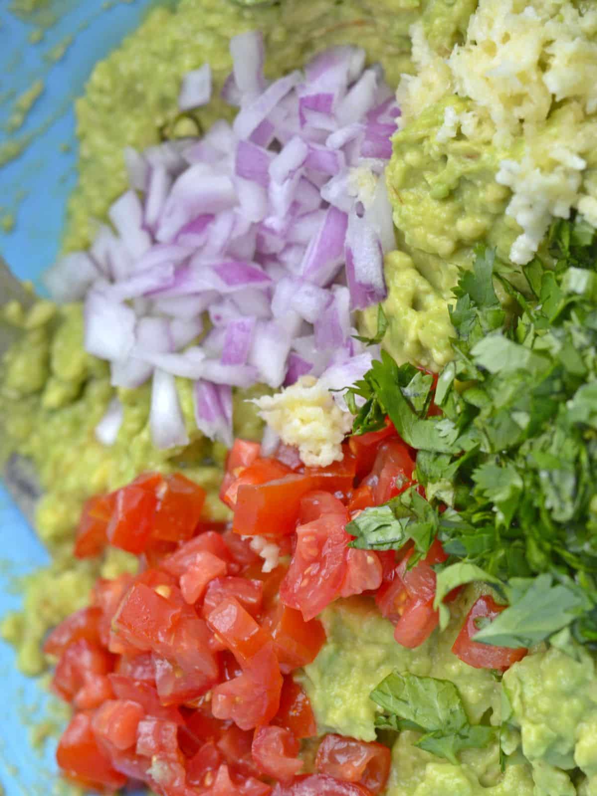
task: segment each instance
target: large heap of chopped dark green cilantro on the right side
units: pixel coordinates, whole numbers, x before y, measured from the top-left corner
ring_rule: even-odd
[[[415,540],[420,557],[439,538],[451,567],[466,564],[439,574],[442,589],[473,575],[508,599],[476,637],[500,646],[528,646],[566,626],[597,645],[597,236],[584,221],[558,220],[547,248],[549,263],[523,268],[524,291],[511,267],[478,248],[455,287],[455,356],[435,396],[424,373],[384,352],[349,391],[353,404],[365,400],[354,432],[389,416],[418,451],[427,496],[411,489],[366,509],[351,524],[353,545]],[[507,313],[497,282],[511,299]],[[427,417],[431,398],[442,417]]]

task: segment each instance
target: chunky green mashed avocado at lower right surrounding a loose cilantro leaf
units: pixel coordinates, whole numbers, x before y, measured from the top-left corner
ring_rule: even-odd
[[[318,728],[362,740],[377,737],[369,694],[398,670],[455,683],[472,724],[501,728],[499,741],[460,753],[458,764],[419,749],[420,734],[384,731],[392,746],[387,796],[575,796],[597,792],[595,660],[566,636],[514,664],[503,679],[474,669],[451,652],[478,591],[451,610],[450,625],[422,646],[396,644],[391,622],[372,600],[351,598],[326,608],[327,642],[300,681]],[[501,746],[501,753],[500,753]]]

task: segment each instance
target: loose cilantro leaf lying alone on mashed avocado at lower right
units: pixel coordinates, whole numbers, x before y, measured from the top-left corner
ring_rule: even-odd
[[[451,763],[458,763],[462,749],[486,747],[499,732],[470,724],[458,689],[449,680],[394,671],[373,689],[371,698],[385,712],[377,716],[377,727],[422,732],[415,745]]]

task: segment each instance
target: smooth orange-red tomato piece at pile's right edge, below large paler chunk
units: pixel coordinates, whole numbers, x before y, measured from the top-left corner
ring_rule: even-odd
[[[271,609],[263,626],[274,639],[280,670],[285,673],[314,661],[326,642],[326,632],[318,619],[306,622],[300,611],[281,602]]]

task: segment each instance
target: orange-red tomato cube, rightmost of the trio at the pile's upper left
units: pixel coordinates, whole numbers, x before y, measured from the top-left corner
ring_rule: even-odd
[[[181,473],[174,473],[162,477],[156,494],[151,537],[174,542],[190,539],[201,517],[205,490]]]

